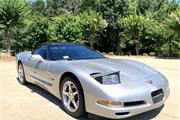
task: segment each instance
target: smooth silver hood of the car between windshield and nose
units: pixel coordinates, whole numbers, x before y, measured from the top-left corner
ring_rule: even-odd
[[[144,80],[156,74],[153,68],[137,61],[127,59],[89,59],[73,60],[69,65],[88,74],[120,72],[121,80]]]

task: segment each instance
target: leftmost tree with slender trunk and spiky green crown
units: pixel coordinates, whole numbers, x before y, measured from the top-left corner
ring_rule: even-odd
[[[28,6],[23,0],[0,0],[0,27],[4,31],[8,55],[11,50],[12,30],[23,24],[28,13]]]

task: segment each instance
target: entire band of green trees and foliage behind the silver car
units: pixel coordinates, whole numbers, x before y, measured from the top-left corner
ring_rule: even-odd
[[[101,52],[180,57],[176,0],[0,0],[0,49],[74,42]]]

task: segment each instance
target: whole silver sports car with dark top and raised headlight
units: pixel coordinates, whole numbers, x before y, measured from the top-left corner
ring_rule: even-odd
[[[17,55],[21,84],[36,84],[62,100],[75,117],[127,118],[161,107],[168,80],[143,63],[110,59],[83,45],[46,43]]]

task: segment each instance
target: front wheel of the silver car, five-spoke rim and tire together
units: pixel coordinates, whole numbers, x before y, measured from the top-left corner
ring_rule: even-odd
[[[79,118],[85,114],[82,88],[74,78],[64,78],[61,85],[61,95],[64,109],[69,115]]]

